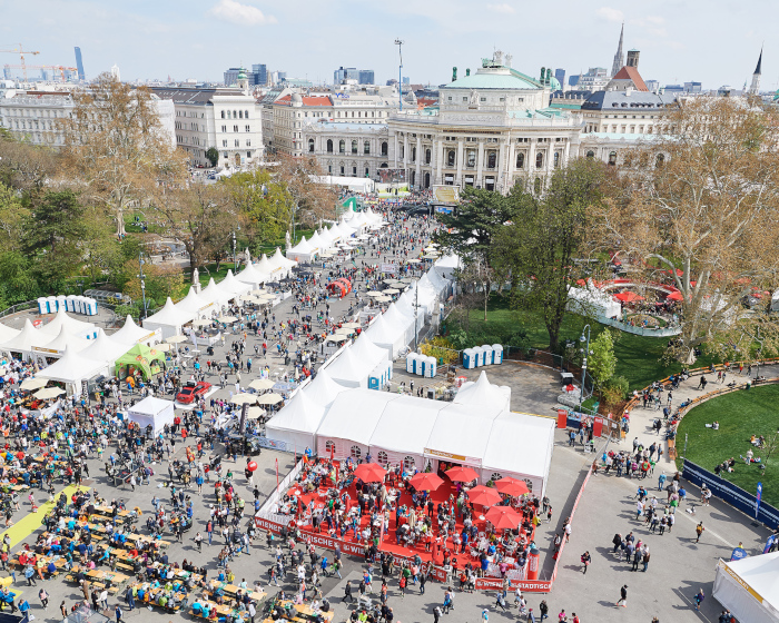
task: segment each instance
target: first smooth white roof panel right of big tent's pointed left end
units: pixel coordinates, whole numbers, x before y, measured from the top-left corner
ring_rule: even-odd
[[[322,421],[317,436],[337,437],[369,446],[384,407],[397,398],[397,394],[375,389],[344,392],[338,395]]]

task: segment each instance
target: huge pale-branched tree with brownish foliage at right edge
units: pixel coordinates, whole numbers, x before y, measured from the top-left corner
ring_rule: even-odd
[[[740,98],[696,98],[671,110],[663,134],[625,162],[593,235],[623,251],[631,278],[678,288],[681,334],[669,355],[723,358],[779,352],[768,309],[746,313],[779,275],[779,116]]]

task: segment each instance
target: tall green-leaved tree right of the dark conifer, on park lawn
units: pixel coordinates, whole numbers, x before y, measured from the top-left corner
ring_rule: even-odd
[[[602,162],[584,158],[558,169],[542,197],[515,185],[506,198],[512,221],[490,243],[492,264],[511,274],[513,305],[541,313],[552,352],[580,275],[575,260],[584,250],[588,209],[603,202],[604,177]]]

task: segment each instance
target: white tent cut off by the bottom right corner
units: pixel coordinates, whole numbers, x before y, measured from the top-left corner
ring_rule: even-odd
[[[720,560],[713,596],[739,621],[779,623],[779,552]]]

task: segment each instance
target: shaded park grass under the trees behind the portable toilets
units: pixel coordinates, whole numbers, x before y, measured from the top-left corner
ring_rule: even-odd
[[[569,314],[565,316],[561,329],[561,342],[579,339],[582,328],[588,320],[581,316]],[[592,339],[605,327],[590,322]],[[549,349],[549,334],[538,314],[520,313],[510,308],[505,297],[493,296],[487,306],[487,322],[484,322],[483,309],[471,309],[470,319],[466,323],[465,314],[457,309],[446,320],[446,330],[458,328],[467,330],[469,342],[466,347],[481,344],[510,344],[513,346],[527,346],[541,350]],[[466,329],[467,327],[467,329]],[[681,364],[667,365],[662,360],[667,338],[643,337],[615,329],[611,329],[617,339],[614,354],[617,355],[617,376],[624,376],[631,389],[640,389],[650,385],[653,380],[664,378],[670,374],[680,372]],[[524,339],[522,339],[524,336]],[[694,367],[708,366],[712,358],[706,353],[696,362]]]

